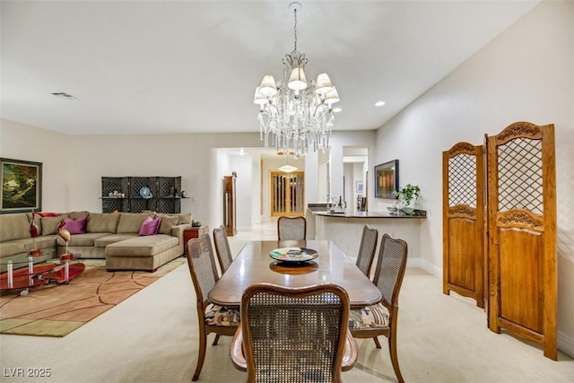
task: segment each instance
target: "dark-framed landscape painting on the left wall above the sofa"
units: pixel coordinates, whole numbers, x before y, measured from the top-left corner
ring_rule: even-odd
[[[42,210],[41,162],[0,158],[0,214]]]

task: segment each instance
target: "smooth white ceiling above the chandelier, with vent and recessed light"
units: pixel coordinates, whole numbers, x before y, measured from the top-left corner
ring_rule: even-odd
[[[539,3],[300,2],[297,48],[337,87],[335,130],[382,126]],[[2,0],[1,116],[70,135],[258,132],[290,3]]]

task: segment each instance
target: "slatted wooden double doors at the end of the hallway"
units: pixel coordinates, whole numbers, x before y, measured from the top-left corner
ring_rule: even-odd
[[[305,214],[305,172],[272,171],[271,215],[302,216]]]

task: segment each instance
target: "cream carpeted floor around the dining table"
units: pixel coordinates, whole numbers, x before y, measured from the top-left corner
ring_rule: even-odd
[[[231,237],[232,254],[250,239],[274,239],[273,223]],[[189,382],[199,343],[195,305],[189,270],[182,265],[63,338],[0,335],[0,381],[38,381],[26,375],[27,368],[37,368],[49,374],[42,382]],[[559,353],[551,361],[536,344],[491,332],[485,310],[473,300],[443,294],[441,279],[422,269],[407,267],[399,305],[398,357],[407,382],[572,382],[574,359]],[[230,360],[230,336],[216,346],[213,336],[198,382],[246,381]],[[345,382],[396,382],[387,339],[380,341],[378,350],[371,339],[358,340],[359,359],[343,373]]]

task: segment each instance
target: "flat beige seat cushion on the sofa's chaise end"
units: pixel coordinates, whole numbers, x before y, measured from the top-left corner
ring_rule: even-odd
[[[106,257],[153,257],[177,247],[178,243],[176,237],[164,234],[134,237],[108,245]]]

